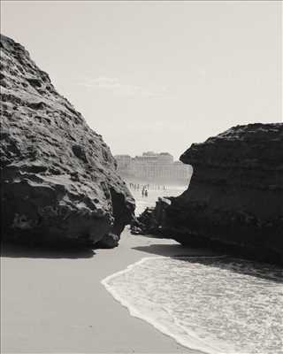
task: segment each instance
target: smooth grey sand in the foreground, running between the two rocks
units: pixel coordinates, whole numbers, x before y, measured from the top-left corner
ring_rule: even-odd
[[[129,235],[114,250],[4,250],[1,352],[196,353],[130,316],[101,281],[143,257],[204,254],[171,240]]]

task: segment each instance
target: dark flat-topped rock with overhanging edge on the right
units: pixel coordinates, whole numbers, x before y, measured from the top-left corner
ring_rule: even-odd
[[[164,215],[151,212],[151,231],[283,263],[283,124],[233,127],[180,160],[194,167],[190,185],[170,206],[157,204]]]

